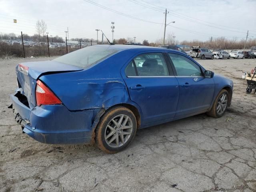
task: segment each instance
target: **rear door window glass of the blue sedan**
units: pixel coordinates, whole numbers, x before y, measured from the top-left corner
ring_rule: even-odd
[[[169,76],[168,68],[161,53],[147,53],[136,56],[126,67],[126,76]]]

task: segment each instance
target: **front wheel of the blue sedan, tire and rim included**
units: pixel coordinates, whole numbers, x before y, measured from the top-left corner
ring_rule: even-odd
[[[229,98],[228,91],[225,89],[222,89],[218,93],[218,95],[212,105],[211,110],[209,112],[207,112],[207,114],[209,116],[212,116],[215,118],[222,117],[228,107],[228,98]]]

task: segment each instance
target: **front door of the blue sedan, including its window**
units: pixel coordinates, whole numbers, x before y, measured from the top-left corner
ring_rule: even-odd
[[[204,78],[201,67],[186,56],[176,53],[168,56],[180,87],[176,116],[209,109],[214,95],[213,78]]]

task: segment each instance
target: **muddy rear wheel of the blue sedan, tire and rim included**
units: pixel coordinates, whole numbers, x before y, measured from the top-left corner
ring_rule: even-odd
[[[96,128],[96,144],[106,153],[117,153],[134,139],[137,122],[133,112],[122,106],[108,110]]]

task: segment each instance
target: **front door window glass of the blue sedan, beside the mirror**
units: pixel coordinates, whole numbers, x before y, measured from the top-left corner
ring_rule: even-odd
[[[168,53],[176,69],[177,76],[203,76],[200,66],[180,54]]]

